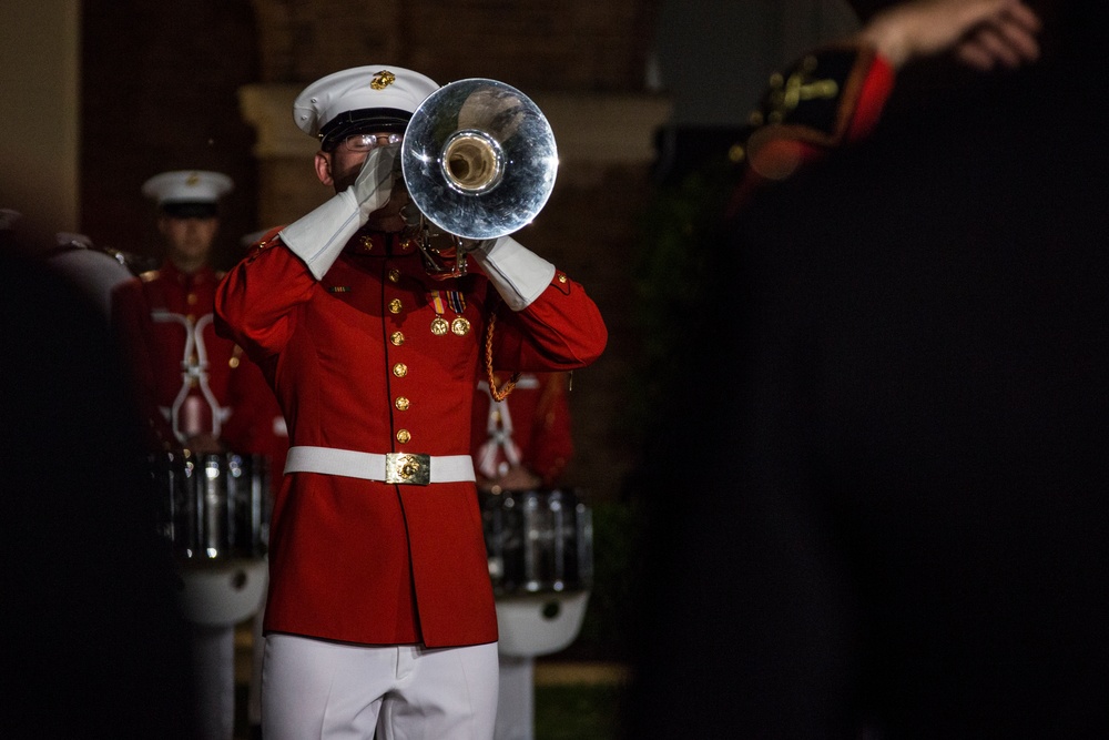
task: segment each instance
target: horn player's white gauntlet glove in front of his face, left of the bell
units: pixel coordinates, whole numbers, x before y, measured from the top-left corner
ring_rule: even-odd
[[[389,202],[399,150],[399,144],[373,150],[353,185],[281,231],[282,242],[316,280],[327,274],[369,214]]]

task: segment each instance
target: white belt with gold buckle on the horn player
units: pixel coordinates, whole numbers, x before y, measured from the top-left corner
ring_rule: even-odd
[[[469,455],[416,455],[411,453],[358,453],[335,447],[289,447],[285,473],[323,473],[348,478],[414,484],[475,480]]]

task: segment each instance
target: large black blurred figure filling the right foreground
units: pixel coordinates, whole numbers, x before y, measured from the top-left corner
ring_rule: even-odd
[[[1109,737],[1096,4],[1029,69],[905,70],[726,230],[631,737]]]

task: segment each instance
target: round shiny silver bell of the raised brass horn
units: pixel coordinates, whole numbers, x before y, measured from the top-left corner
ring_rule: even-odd
[[[472,78],[428,95],[405,130],[408,195],[444,232],[487,240],[535,219],[554,187],[558,151],[547,118],[511,85]]]

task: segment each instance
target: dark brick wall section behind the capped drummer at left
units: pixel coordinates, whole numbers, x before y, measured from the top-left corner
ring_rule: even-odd
[[[257,78],[247,0],[83,3],[81,230],[98,244],[156,253],[154,205],[140,193],[167,170],[224,172],[217,260],[256,229],[254,132],[237,90]]]

